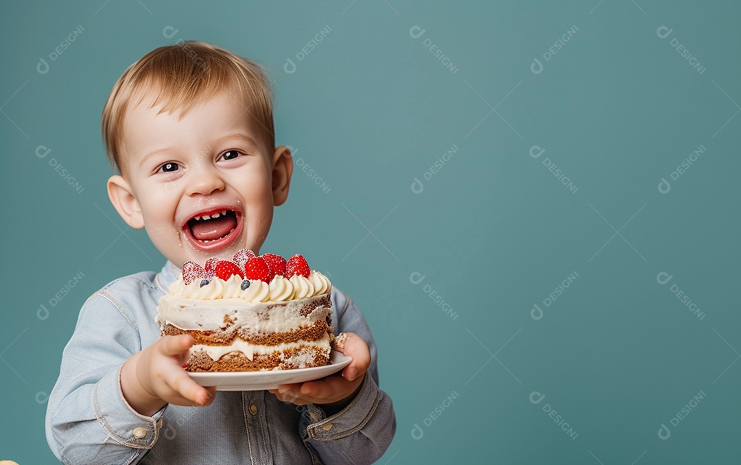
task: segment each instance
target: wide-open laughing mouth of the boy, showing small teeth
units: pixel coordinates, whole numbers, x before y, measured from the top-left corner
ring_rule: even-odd
[[[239,237],[242,218],[228,208],[203,212],[190,218],[183,230],[196,249],[221,249]]]

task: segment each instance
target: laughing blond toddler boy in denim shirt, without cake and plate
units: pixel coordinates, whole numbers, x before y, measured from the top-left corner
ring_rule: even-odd
[[[157,300],[179,267],[259,253],[288,197],[293,161],[274,148],[269,87],[253,62],[200,42],[153,50],[113,87],[102,124],[121,174],[108,195],[168,261],[83,305],[47,407],[47,441],[65,464],[361,464],[391,443],[373,337],[335,288],[333,322],[353,361],[322,380],[216,393],[182,368],[193,338],[159,336]],[[213,211],[227,215],[191,228]]]

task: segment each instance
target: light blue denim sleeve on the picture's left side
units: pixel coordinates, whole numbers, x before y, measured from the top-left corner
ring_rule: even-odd
[[[157,441],[160,417],[125,401],[119,372],[142,349],[136,320],[102,290],[85,302],[47,405],[47,442],[64,464],[136,464]]]

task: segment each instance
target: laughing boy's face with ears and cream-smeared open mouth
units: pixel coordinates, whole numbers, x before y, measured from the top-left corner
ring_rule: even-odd
[[[259,123],[228,93],[182,118],[150,104],[144,100],[124,120],[124,175],[108,181],[116,210],[131,227],[145,227],[178,267],[242,248],[258,252],[273,204],[288,195],[288,150],[269,151]]]

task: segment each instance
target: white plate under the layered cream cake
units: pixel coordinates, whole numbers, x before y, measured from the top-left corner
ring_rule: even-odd
[[[342,352],[330,353],[325,367],[276,369],[264,372],[207,372],[188,373],[201,386],[216,386],[217,391],[262,391],[276,389],[280,384],[303,383],[339,372],[353,359]]]

